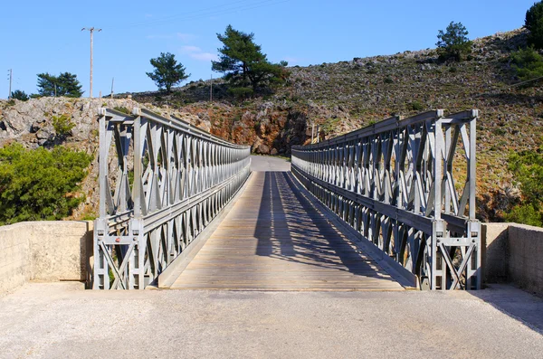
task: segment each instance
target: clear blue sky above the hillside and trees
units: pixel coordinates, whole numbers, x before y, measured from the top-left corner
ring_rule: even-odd
[[[36,74],[69,71],[89,90],[90,39],[94,36],[94,96],[155,90],[149,59],[172,52],[192,76],[209,79],[221,43],[216,33],[233,28],[255,34],[271,61],[306,66],[434,47],[436,34],[462,22],[470,38],[524,24],[534,0],[478,1],[10,1],[2,5],[0,98],[13,90],[36,92]],[[219,74],[214,74],[214,77]]]

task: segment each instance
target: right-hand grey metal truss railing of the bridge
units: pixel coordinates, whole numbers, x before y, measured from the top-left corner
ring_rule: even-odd
[[[481,288],[475,218],[478,110],[389,118],[292,148],[292,172],[312,194],[421,288]]]

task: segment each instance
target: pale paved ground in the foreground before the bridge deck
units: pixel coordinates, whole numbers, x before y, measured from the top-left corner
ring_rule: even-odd
[[[543,354],[543,326],[536,315],[543,311],[543,301],[509,287],[479,292],[484,300],[460,291],[78,288],[72,283],[32,283],[0,298],[0,357],[535,358]],[[509,312],[501,304],[509,305]]]

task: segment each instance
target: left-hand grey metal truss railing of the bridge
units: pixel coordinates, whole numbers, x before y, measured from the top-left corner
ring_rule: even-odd
[[[95,289],[142,289],[195,240],[250,174],[250,147],[145,109],[100,109]]]

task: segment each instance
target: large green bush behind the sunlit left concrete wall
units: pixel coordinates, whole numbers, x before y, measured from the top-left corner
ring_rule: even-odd
[[[91,156],[57,146],[27,150],[19,144],[0,148],[0,225],[60,220],[84,196],[75,192]]]

